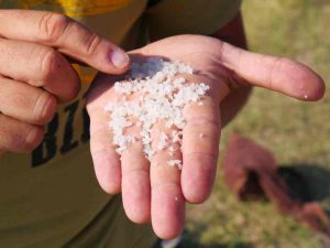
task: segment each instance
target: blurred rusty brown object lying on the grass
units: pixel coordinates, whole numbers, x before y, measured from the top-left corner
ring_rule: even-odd
[[[241,201],[268,198],[283,214],[297,217],[330,236],[330,218],[317,202],[302,203],[289,195],[272,153],[233,133],[224,152],[224,181]]]

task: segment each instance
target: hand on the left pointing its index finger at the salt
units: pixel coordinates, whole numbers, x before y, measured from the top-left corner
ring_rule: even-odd
[[[64,15],[0,10],[0,150],[26,152],[43,139],[58,100],[74,99],[79,78],[67,57],[120,74],[128,56]]]

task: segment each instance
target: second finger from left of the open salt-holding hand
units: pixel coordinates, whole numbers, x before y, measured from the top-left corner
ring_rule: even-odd
[[[130,133],[139,133],[134,128]],[[122,201],[128,217],[139,224],[150,222],[151,190],[150,166],[143,154],[142,141],[134,142],[121,157]]]

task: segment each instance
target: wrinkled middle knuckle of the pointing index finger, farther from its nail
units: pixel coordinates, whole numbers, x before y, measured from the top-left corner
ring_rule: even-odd
[[[63,14],[47,12],[40,21],[40,35],[46,43],[55,43],[69,25],[69,19]]]

